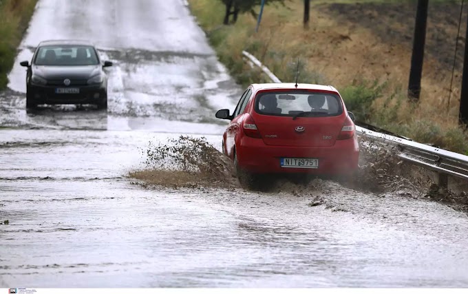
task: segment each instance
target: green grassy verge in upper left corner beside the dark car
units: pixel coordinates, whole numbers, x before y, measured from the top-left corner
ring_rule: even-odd
[[[34,12],[37,0],[0,0],[0,89],[8,84],[17,47]]]

